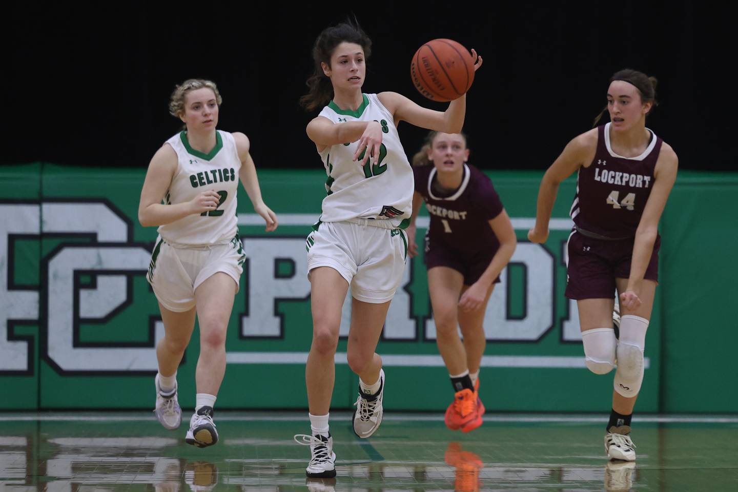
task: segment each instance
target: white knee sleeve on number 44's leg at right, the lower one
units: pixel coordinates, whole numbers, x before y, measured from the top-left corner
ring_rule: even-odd
[[[632,314],[626,314],[620,320],[618,370],[615,371],[613,386],[615,391],[625,398],[632,398],[641,391],[648,323],[648,319]]]

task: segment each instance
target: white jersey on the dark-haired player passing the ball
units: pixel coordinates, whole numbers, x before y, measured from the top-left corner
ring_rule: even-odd
[[[413,209],[415,181],[413,168],[400,143],[393,115],[379,102],[376,94],[362,94],[364,102],[356,111],[343,110],[333,101],[320,116],[334,123],[377,121],[382,125],[379,162],[360,166],[354,162],[356,142],[331,145],[320,152],[325,173],[323,222],[352,218],[389,219],[395,227],[407,227]]]

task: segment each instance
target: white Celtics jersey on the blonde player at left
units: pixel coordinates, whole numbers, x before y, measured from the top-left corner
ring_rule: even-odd
[[[192,214],[170,224],[159,226],[159,235],[175,246],[205,246],[228,243],[238,229],[235,216],[238,172],[241,159],[233,136],[227,131],[215,132],[215,148],[201,153],[190,147],[187,132],[176,134],[167,142],[177,154],[177,170],[165,197],[166,204],[181,204],[199,193],[213,190],[221,195],[218,208]]]

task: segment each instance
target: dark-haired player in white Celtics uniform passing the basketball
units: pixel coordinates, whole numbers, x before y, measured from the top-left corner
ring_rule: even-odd
[[[315,72],[300,102],[325,107],[308,123],[328,175],[320,221],[308,236],[313,341],[306,366],[311,435],[308,477],[335,477],[328,410],[341,308],[351,286],[348,365],[359,375],[354,432],[369,437],[382,422],[384,371],[374,350],[390,301],[402,278],[413,201],[413,169],[397,133],[400,121],[448,133],[461,131],[466,97],[445,112],[421,108],[395,92],[363,94],[371,41],[360,27],[338,24],[320,33],[313,47]],[[482,59],[472,50],[475,70]]]

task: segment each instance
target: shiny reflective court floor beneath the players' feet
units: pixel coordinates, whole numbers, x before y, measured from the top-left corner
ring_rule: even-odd
[[[0,491],[738,491],[738,415],[638,415],[635,463],[607,462],[607,415],[386,415],[368,440],[331,412],[336,479],[308,481],[306,412],[217,412],[198,449],[150,412],[0,413]]]

